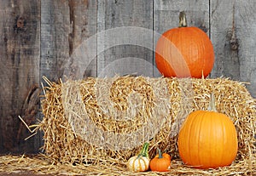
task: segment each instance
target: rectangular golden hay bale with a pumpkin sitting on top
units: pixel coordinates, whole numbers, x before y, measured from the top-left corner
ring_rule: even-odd
[[[217,110],[236,126],[236,163],[255,163],[256,100],[241,82],[129,76],[45,80],[49,86],[44,88],[39,126],[44,152],[56,162],[124,164],[145,141],[150,141],[150,156],[160,146],[178,158],[181,123],[189,112],[207,110],[213,93]]]

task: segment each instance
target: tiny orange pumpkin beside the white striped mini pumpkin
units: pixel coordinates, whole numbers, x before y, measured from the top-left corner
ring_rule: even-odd
[[[167,153],[162,153],[158,148],[158,154],[149,162],[149,167],[152,171],[166,172],[171,166],[171,156]]]

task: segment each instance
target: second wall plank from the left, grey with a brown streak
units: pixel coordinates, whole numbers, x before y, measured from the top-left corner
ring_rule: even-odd
[[[51,81],[57,81],[63,74],[73,71],[72,66],[78,66],[73,54],[79,51],[84,40],[96,34],[96,2],[45,0],[41,9],[40,77],[46,76]],[[80,52],[86,54],[83,49]],[[90,68],[84,71],[86,76],[96,75],[95,63],[96,60],[92,61]]]

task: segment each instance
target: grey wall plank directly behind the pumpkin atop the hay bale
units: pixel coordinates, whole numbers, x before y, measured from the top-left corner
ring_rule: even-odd
[[[154,31],[160,35],[177,27],[181,11],[185,11],[187,15],[188,26],[197,26],[209,35],[209,2],[204,0],[154,1]],[[159,35],[154,37],[154,46]],[[157,69],[154,69],[154,77],[160,77]]]

